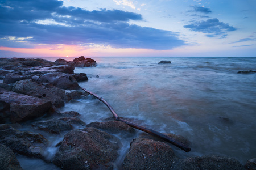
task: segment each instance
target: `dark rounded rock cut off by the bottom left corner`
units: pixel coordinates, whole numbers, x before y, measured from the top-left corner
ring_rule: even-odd
[[[0,169],[22,170],[14,152],[0,144]]]

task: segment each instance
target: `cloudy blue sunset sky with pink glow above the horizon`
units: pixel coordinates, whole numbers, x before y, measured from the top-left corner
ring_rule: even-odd
[[[0,57],[256,57],[255,0],[0,0]]]

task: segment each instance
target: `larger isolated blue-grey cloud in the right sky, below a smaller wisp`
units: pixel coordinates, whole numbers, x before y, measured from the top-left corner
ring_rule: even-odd
[[[237,30],[237,28],[229,26],[229,24],[220,22],[217,18],[194,21],[192,24],[184,25],[184,28],[188,28],[191,31],[207,33],[208,37],[215,37],[229,31]]]

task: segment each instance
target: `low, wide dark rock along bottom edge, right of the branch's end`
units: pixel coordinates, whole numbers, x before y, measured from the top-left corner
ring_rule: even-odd
[[[238,160],[223,156],[202,156],[184,159],[177,164],[176,169],[209,169],[209,170],[241,170],[243,165]]]

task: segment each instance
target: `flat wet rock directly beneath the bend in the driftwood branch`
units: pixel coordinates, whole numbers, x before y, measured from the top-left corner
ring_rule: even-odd
[[[97,129],[101,129],[108,133],[135,133],[135,130],[131,128],[131,126],[121,122],[121,121],[107,121],[107,122],[92,122],[86,127],[93,127]]]

